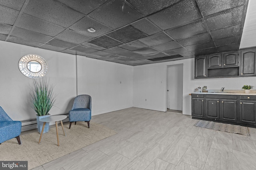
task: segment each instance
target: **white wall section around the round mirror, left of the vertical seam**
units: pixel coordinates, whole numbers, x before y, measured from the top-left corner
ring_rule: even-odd
[[[19,68],[20,58],[27,54],[43,57],[49,66],[46,77],[55,85],[56,106],[50,114],[67,113],[70,100],[76,95],[76,67],[73,55],[38,49],[0,41],[0,106],[14,120],[26,120],[36,117],[30,107],[30,87],[32,79],[24,76]]]

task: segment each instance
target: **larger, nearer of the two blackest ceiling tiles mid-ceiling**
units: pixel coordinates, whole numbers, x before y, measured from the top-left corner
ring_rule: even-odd
[[[128,43],[147,36],[146,33],[132,27],[131,25],[117,29],[107,35],[123,43]]]

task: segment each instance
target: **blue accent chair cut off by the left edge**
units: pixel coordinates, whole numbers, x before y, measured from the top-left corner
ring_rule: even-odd
[[[21,133],[21,122],[13,121],[0,106],[0,144],[16,137],[19,144]]]

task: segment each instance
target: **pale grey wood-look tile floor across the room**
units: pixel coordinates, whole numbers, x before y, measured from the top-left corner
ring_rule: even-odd
[[[193,126],[191,116],[131,107],[92,116],[118,133],[34,170],[255,170],[250,137]]]

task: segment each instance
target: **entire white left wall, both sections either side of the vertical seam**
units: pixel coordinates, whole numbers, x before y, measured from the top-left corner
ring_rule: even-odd
[[[0,41],[0,51],[0,106],[14,120],[36,117],[30,107],[33,79],[24,76],[18,68],[18,61],[27,54],[40,55],[48,63],[46,77],[55,85],[57,95],[51,115],[68,113],[77,91],[92,96],[92,115],[132,107],[132,66],[77,56],[76,79],[75,55],[5,41]]]

